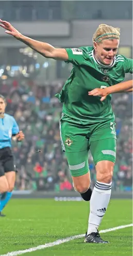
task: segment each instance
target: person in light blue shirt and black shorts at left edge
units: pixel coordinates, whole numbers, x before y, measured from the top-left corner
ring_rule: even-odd
[[[19,127],[13,116],[5,113],[6,99],[0,95],[0,217],[3,208],[8,203],[12,195],[15,183],[15,165],[11,151],[11,138],[22,141],[24,134],[19,131]]]

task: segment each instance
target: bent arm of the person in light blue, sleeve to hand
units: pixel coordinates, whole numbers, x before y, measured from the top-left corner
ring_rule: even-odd
[[[24,133],[23,131],[19,130],[19,126],[16,123],[15,119],[13,118],[13,126],[12,126],[12,140],[14,141],[22,141],[24,140]]]

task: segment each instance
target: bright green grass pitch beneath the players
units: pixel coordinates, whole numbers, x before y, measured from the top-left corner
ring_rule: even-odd
[[[87,230],[89,203],[53,199],[11,199],[0,218],[0,255],[44,245]],[[112,199],[99,230],[132,223],[131,200]],[[101,234],[108,245],[84,244],[75,239],[24,255],[131,256],[132,227]]]

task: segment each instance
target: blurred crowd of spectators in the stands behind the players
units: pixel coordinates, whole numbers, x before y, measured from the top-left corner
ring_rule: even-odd
[[[59,119],[62,105],[54,97],[62,83],[38,85],[29,80],[4,80],[1,94],[7,99],[6,112],[13,115],[25,133],[23,143],[13,142],[18,174],[15,190],[71,191],[70,171],[62,153]],[[112,97],[117,123],[117,162],[112,181],[113,191],[132,189],[132,93],[117,93]],[[41,151],[41,152],[40,152]],[[96,174],[89,153],[92,186]]]

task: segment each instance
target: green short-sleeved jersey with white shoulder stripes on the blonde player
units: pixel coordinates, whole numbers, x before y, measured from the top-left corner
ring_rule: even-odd
[[[88,96],[88,91],[119,84],[125,73],[132,73],[132,59],[116,55],[110,65],[99,63],[93,47],[67,48],[68,61],[73,64],[71,75],[56,97],[63,102],[63,114],[80,124],[99,123],[114,119],[111,95]]]

